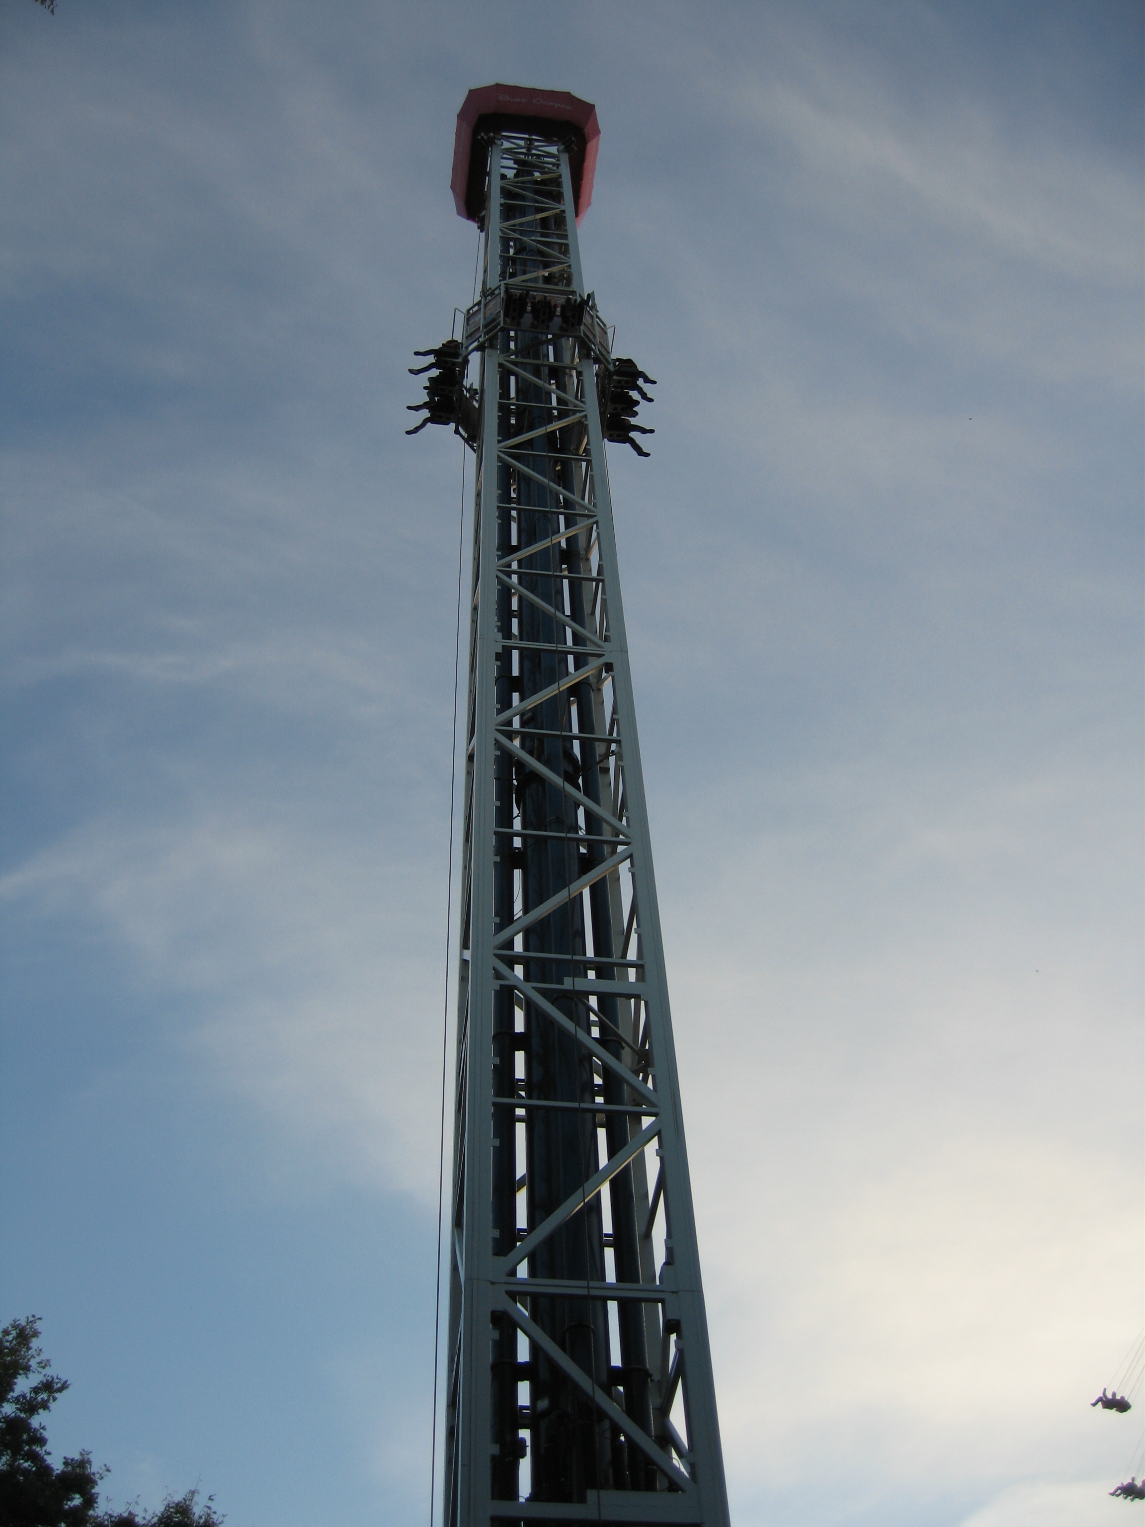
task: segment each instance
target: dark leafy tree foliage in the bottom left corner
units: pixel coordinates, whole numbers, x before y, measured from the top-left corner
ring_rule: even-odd
[[[44,3],[44,0],[41,0]],[[35,1315],[0,1330],[0,1522],[3,1527],[221,1527],[223,1518],[198,1490],[168,1496],[142,1516],[134,1506],[101,1512],[99,1481],[107,1469],[92,1466],[90,1452],[56,1467],[40,1417],[67,1390],[40,1350]]]

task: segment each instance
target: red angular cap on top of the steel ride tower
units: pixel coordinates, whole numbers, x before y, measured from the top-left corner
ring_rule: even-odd
[[[565,133],[554,133],[554,124]],[[485,174],[489,171],[489,137],[498,128],[536,133],[537,137],[568,136],[572,140],[569,169],[577,223],[592,202],[592,176],[597,168],[600,125],[591,101],[568,90],[530,90],[527,86],[482,86],[470,90],[456,115],[453,140],[453,177],[450,189],[458,217],[481,221],[485,211]]]

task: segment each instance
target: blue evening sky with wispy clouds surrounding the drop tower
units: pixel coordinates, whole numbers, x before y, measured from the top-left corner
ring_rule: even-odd
[[[597,104],[658,379],[609,470],[733,1521],[1124,1510],[1143,32],[5,0],[0,1322],[108,1501],[431,1527],[472,466],[403,431],[499,79]]]

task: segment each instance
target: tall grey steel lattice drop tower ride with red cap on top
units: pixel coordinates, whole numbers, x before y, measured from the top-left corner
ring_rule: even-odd
[[[576,96],[467,96],[484,279],[421,405],[476,452],[444,1527],[728,1522],[605,463],[649,379],[577,247],[597,140]]]

